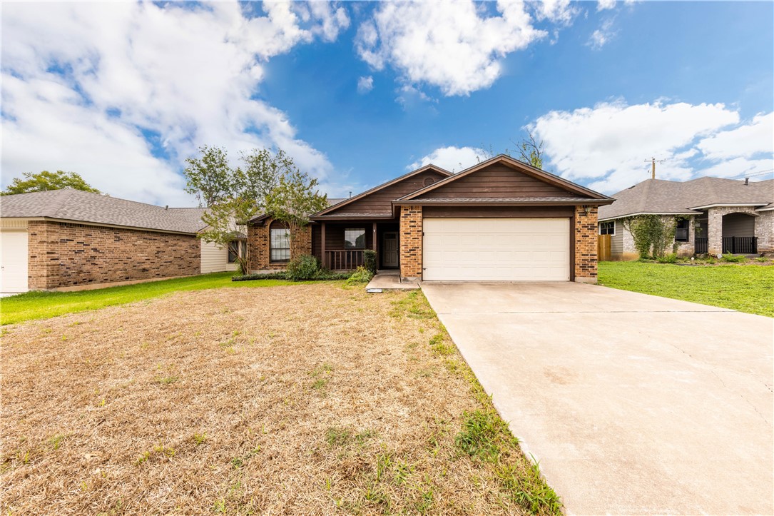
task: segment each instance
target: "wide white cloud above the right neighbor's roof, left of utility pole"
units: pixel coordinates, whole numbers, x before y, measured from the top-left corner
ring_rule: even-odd
[[[608,102],[549,112],[530,129],[557,173],[611,193],[647,179],[651,157],[666,160],[656,177],[690,179],[697,143],[738,122],[738,112],[722,104]]]

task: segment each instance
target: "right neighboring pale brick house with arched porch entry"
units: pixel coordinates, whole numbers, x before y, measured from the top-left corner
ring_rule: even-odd
[[[612,260],[639,258],[623,220],[645,214],[676,218],[674,243],[680,256],[774,252],[774,180],[648,179],[613,198],[614,203],[599,208],[599,233],[611,236]]]

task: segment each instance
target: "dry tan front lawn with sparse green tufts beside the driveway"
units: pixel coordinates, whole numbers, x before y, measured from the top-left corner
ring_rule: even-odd
[[[4,512],[558,511],[419,292],[186,292],[4,333]]]

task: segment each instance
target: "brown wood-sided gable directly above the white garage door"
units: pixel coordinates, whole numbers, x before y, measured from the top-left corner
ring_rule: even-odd
[[[497,165],[502,165],[502,167],[496,167]],[[498,186],[496,178],[498,176],[505,177],[505,170],[507,170],[505,174],[509,177],[509,181],[503,181],[502,186]],[[481,174],[482,181],[473,181],[472,177],[478,174]],[[457,184],[452,187],[453,183]],[[489,184],[494,186],[489,186]],[[448,194],[450,191],[456,191],[456,194],[450,196]],[[469,194],[465,195],[465,192],[469,192]],[[607,195],[501,154],[478,163],[474,167],[467,168],[459,174],[447,177],[443,181],[438,181],[436,184],[405,195],[397,199],[396,202],[424,202],[439,197],[483,197],[488,198],[489,201],[494,201],[495,198],[524,198],[527,197],[524,195],[525,193],[529,193],[529,197],[535,198],[572,198],[569,202],[592,201],[595,204],[601,204],[613,201]]]

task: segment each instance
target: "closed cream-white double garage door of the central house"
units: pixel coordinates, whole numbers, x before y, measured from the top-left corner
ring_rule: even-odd
[[[423,280],[570,280],[569,218],[426,218]]]

